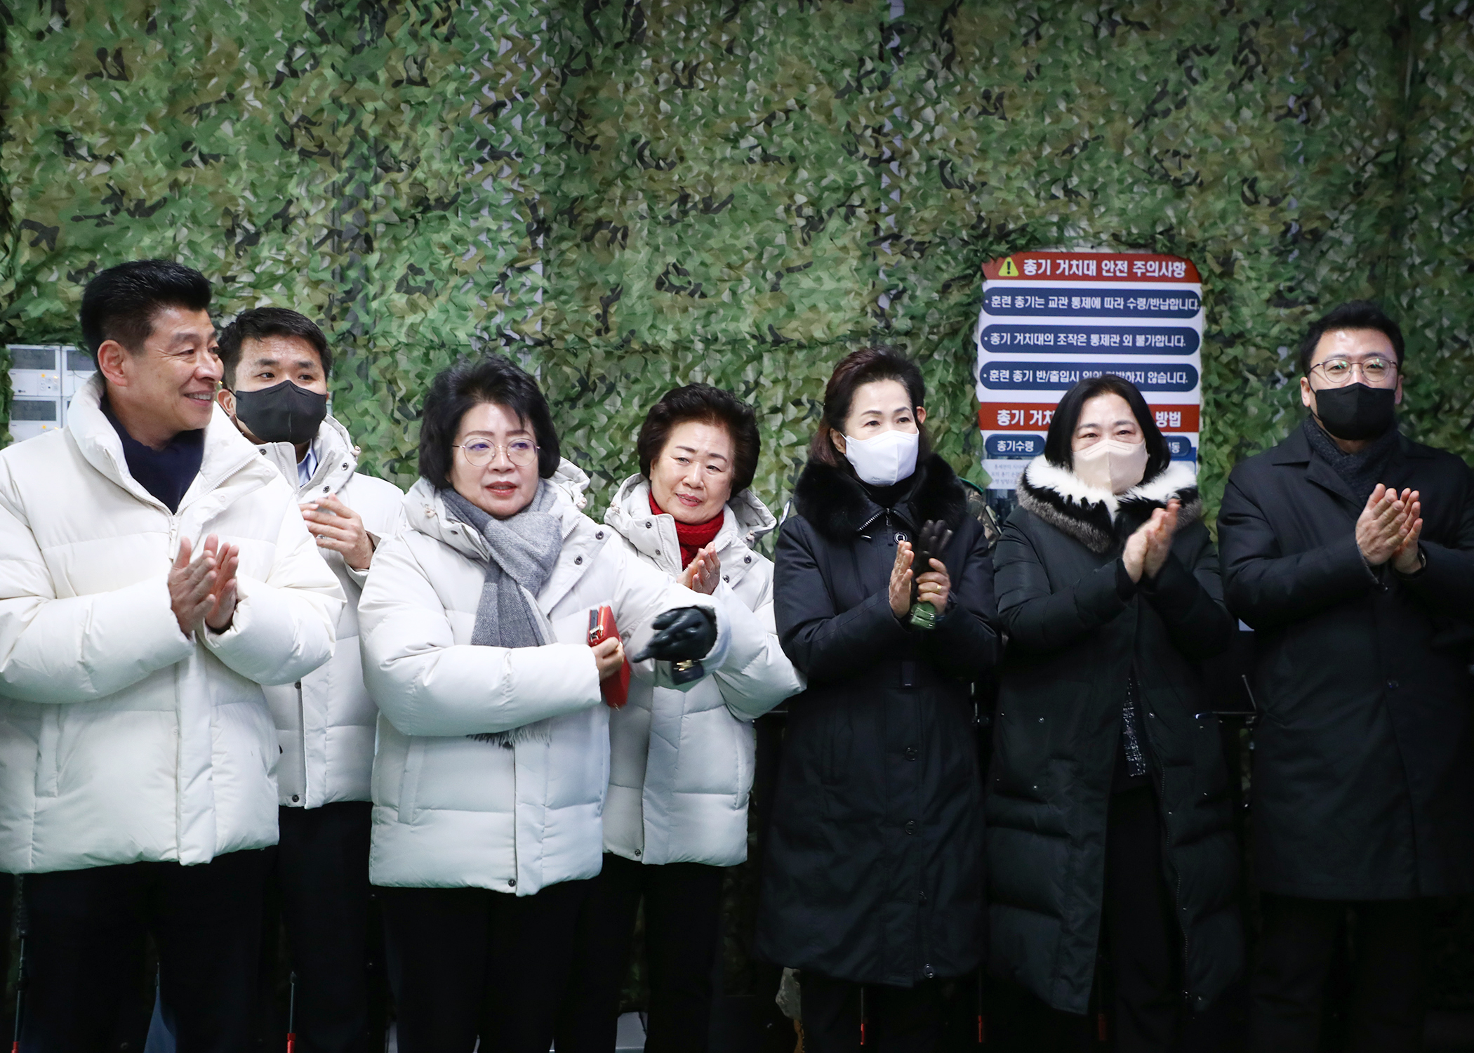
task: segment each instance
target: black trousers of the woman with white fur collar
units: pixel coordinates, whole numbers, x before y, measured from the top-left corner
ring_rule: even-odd
[[[1182,935],[1163,876],[1151,786],[1113,793],[1106,819],[1104,942],[1119,1053],[1166,1053],[1184,1022]]]

